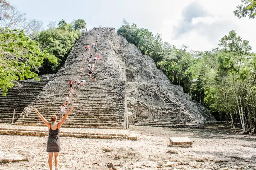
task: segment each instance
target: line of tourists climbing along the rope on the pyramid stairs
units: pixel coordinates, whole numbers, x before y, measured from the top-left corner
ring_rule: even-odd
[[[101,26],[100,26],[100,29],[101,29]],[[105,29],[105,28],[103,28],[103,29]],[[90,29],[90,32],[91,32],[91,29]],[[102,33],[104,33],[104,30],[102,30]],[[96,42],[96,43],[93,42],[93,43],[92,43],[92,46],[91,46],[92,48],[95,48],[95,52],[96,52],[96,53],[98,52],[97,43],[98,43],[98,38],[99,38],[99,36],[100,36],[100,33],[97,33],[97,34],[95,35],[95,39],[96,39],[95,42]],[[89,54],[89,52],[90,52],[90,50],[91,50],[91,47],[90,47],[89,45],[86,45],[86,46],[85,46],[85,51],[88,50],[88,54]],[[84,60],[84,59],[85,59],[85,55],[84,55],[84,54],[82,54],[82,55],[83,55],[82,60]],[[97,57],[94,57],[94,63],[92,63],[92,65],[91,65],[92,58],[93,58],[93,54],[92,54],[92,53],[90,54],[90,57],[88,56],[88,57],[86,58],[86,61],[87,61],[87,68],[88,68],[87,71],[89,71],[88,78],[91,77],[92,71],[94,71],[94,63],[96,64],[97,62],[98,62],[98,63],[100,62],[100,54],[98,53]],[[82,72],[83,68],[81,68],[80,70],[81,70],[81,72]],[[81,74],[80,74],[80,75],[81,75]],[[93,74],[93,81],[94,81],[94,82],[96,82],[96,77],[97,77],[97,73],[94,72],[94,74]],[[79,77],[79,78],[80,78],[80,77]],[[81,86],[84,86],[85,80],[81,80],[81,81],[80,81],[78,78],[77,78],[76,80],[77,80],[76,87],[80,87],[80,85],[81,85]],[[62,117],[63,117],[63,114],[66,113],[66,107],[67,107],[67,105],[68,105],[68,102],[70,101],[72,95],[73,95],[74,92],[75,92],[75,91],[74,91],[73,84],[74,84],[74,83],[73,83],[73,80],[71,79],[71,80],[69,81],[69,92],[68,92],[68,95],[65,97],[64,103],[60,106],[60,118],[62,118]]]

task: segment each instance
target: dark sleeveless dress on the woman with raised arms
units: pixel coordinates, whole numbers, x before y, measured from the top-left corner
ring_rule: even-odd
[[[60,152],[60,129],[52,130],[51,124],[46,152]]]

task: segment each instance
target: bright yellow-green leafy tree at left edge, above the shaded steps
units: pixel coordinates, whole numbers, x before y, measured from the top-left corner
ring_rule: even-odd
[[[36,78],[35,71],[47,59],[57,63],[57,58],[46,50],[41,51],[39,43],[27,37],[24,31],[0,29],[0,89],[6,95],[7,88],[13,87],[17,80]]]

